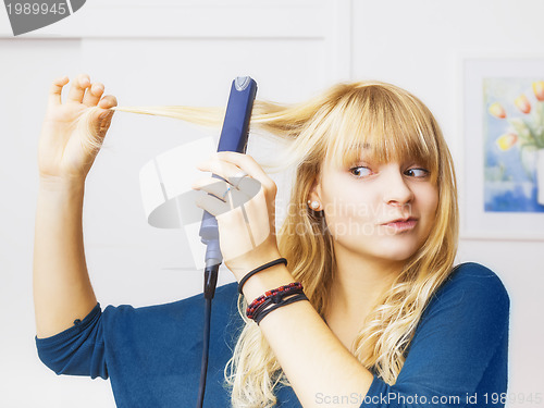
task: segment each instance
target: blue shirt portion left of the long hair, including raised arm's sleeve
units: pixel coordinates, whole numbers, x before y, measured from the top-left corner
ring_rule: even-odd
[[[193,394],[198,384],[203,304],[202,294],[138,308],[121,305],[102,310],[97,304],[70,329],[51,337],[36,337],[38,356],[57,374],[110,379],[119,400],[138,401],[129,407],[141,406],[141,398],[151,397],[162,401],[159,405],[165,404],[166,395]],[[218,379],[220,374],[222,379],[243,323],[236,305],[236,284],[217,288],[208,371],[217,372]],[[158,404],[153,400],[145,406]]]

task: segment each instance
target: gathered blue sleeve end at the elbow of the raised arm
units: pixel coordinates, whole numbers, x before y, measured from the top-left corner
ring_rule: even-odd
[[[100,304],[65,331],[47,338],[36,337],[40,360],[57,374],[108,379]]]

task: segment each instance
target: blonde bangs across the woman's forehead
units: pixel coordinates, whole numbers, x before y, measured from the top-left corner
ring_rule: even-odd
[[[415,161],[437,175],[437,126],[431,112],[411,95],[382,86],[360,87],[339,100],[331,114],[335,118],[327,151],[334,165],[350,166],[361,159]]]

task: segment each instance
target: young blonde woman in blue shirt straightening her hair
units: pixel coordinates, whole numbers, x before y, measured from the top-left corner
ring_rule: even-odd
[[[81,75],[62,102],[67,82],[52,85],[39,146],[39,356],[59,374],[109,376],[119,407],[195,406],[202,296],[97,304],[82,206],[116,101]],[[187,118],[181,108],[152,113]],[[297,106],[256,102],[251,125],[288,141],[296,180],[276,235],[276,186],[259,163],[221,152],[199,165],[228,181],[193,187],[210,194],[198,206],[217,215],[225,265],[245,281],[239,297],[236,284],[215,294],[205,405],[503,407],[509,298],[485,267],[453,268],[455,172],[428,108],[393,85],[361,82]],[[225,211],[245,180],[260,189]],[[276,288],[275,300],[254,307]]]

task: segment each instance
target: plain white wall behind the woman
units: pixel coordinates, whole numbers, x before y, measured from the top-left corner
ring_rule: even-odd
[[[536,0],[111,3],[88,2],[73,16],[17,38],[0,12],[2,407],[114,406],[108,382],[57,378],[34,346],[36,152],[52,78],[87,72],[120,104],[196,106],[223,106],[230,82],[240,74],[257,79],[259,98],[286,102],[336,81],[382,79],[428,103],[462,162],[460,59],[544,57],[544,3]],[[138,185],[144,163],[199,135],[177,121],[116,114],[87,181],[84,208],[87,263],[102,305],[150,305],[201,289],[198,272],[168,270],[190,269],[187,243],[178,231],[147,225]],[[248,152],[258,158],[259,146],[251,140]],[[288,186],[276,177],[280,187]],[[544,336],[543,250],[537,240],[460,243],[459,261],[489,265],[509,290],[512,393],[544,393],[544,351],[536,344]],[[222,272],[222,282],[231,281]]]

